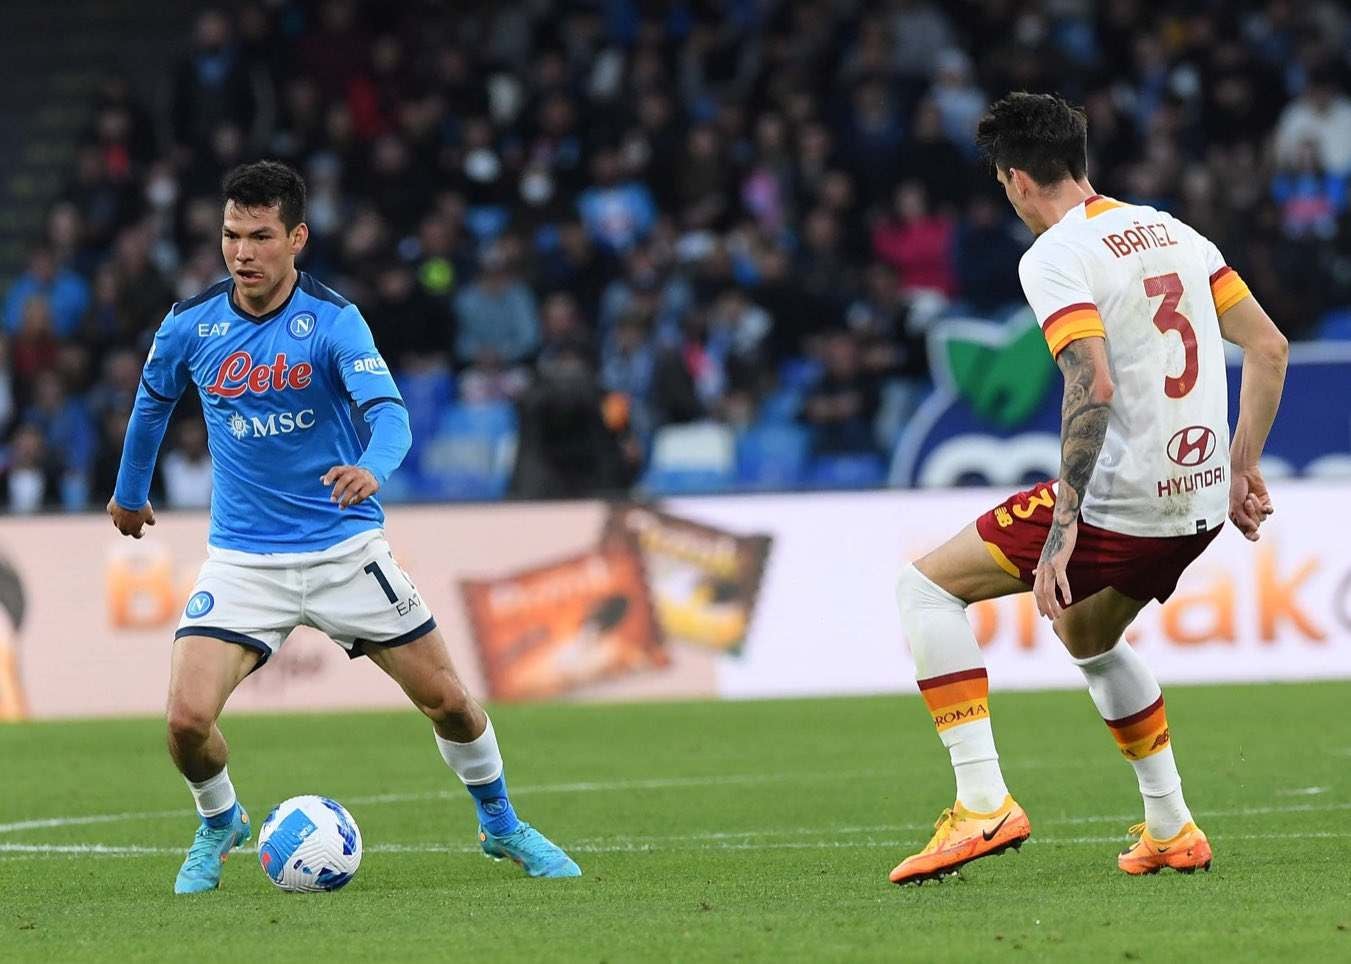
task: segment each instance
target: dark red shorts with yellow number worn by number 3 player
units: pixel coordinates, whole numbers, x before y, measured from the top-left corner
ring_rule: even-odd
[[[1036,577],[1042,547],[1051,529],[1054,485],[1035,485],[975,520],[975,531],[994,562],[1028,586]],[[1132,599],[1163,602],[1173,595],[1182,571],[1217,535],[1219,527],[1194,536],[1127,536],[1079,518],[1078,540],[1066,571],[1070,594],[1078,602],[1111,586]]]

